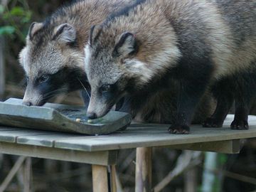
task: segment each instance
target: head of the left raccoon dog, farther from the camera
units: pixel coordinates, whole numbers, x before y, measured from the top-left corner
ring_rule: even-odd
[[[40,106],[60,92],[79,89],[79,80],[86,79],[83,57],[72,25],[32,23],[20,53],[27,79],[23,103]]]

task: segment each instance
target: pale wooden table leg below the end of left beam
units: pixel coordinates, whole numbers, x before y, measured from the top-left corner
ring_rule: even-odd
[[[107,182],[107,166],[92,165],[93,192],[110,192]]]

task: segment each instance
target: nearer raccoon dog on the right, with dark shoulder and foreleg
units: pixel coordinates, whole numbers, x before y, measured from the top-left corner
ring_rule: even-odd
[[[131,108],[143,105],[153,92],[171,92],[176,80],[177,114],[169,130],[188,133],[207,87],[247,70],[256,59],[256,25],[251,19],[255,1],[229,1],[233,8],[247,7],[237,31],[232,22],[238,15],[233,9],[221,14],[222,3],[138,1],[93,26],[85,47],[85,71],[92,89],[87,115],[102,117],[121,97]],[[244,26],[250,34],[238,36]]]

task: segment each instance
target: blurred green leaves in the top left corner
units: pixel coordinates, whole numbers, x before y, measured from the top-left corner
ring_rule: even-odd
[[[11,0],[6,6],[0,5],[0,36],[18,37],[25,41],[31,16],[26,1]]]

